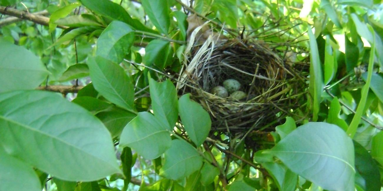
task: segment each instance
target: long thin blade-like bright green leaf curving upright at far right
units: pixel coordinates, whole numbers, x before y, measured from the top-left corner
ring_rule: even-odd
[[[372,31],[372,28],[370,28]],[[371,45],[371,50],[375,50],[375,37],[373,37],[373,41]],[[346,133],[349,134],[351,138],[354,137],[355,133],[357,132],[358,125],[360,123],[360,119],[362,118],[362,115],[364,114],[364,108],[367,100],[368,90],[370,89],[370,82],[372,78],[373,73],[373,65],[374,65],[374,54],[375,51],[370,51],[370,59],[368,61],[368,70],[367,70],[367,80],[366,84],[362,88],[362,95],[360,98],[360,101],[358,103],[357,110],[355,112],[354,118],[352,118],[352,121],[350,123],[349,128],[347,129]]]

